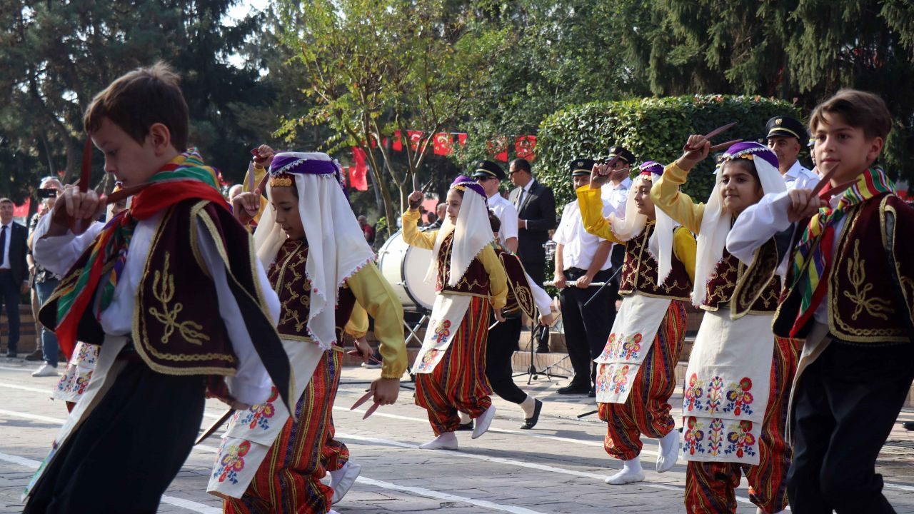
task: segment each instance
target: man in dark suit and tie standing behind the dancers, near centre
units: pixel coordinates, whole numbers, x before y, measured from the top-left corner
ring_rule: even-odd
[[[542,287],[546,273],[543,244],[549,241],[549,230],[556,228],[556,198],[552,189],[533,177],[526,159],[511,161],[508,176],[516,186],[508,200],[517,209],[517,256],[530,278]],[[540,342],[537,352],[548,351],[548,346]]]

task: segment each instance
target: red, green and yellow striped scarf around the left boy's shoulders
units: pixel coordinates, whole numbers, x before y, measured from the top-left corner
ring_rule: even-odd
[[[207,166],[196,149],[187,151],[163,166],[149,179],[151,185],[133,197],[131,208],[122,210],[105,225],[90,248],[89,260],[79,278],[60,292],[57,337],[67,355],[76,345],[80,318],[99,287],[100,301],[94,316],[101,316],[111,305],[137,222],[188,198],[209,200],[228,208],[219,193],[217,177],[216,169]],[[108,280],[102,283],[101,277],[108,272]]]

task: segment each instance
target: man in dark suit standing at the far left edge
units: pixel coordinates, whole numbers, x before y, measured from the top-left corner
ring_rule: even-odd
[[[9,324],[6,357],[19,343],[19,295],[28,291],[27,230],[13,221],[13,200],[0,198],[0,300]]]

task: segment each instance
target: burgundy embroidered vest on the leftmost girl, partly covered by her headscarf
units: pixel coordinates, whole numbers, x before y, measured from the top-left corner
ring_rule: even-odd
[[[282,243],[267,272],[273,290],[280,297],[280,323],[277,330],[285,339],[311,339],[306,328],[311,312],[311,284],[304,273],[307,262],[307,241],[289,240]],[[343,284],[337,295],[335,309],[337,343],[343,340],[343,328],[352,315],[354,305],[356,295],[352,294],[348,285]]]

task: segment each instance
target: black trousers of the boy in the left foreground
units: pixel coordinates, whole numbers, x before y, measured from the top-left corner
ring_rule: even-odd
[[[24,514],[154,514],[203,420],[206,378],[128,364],[58,450]]]

